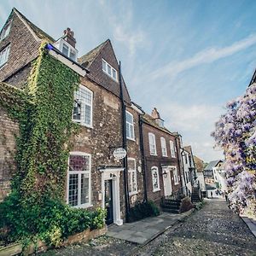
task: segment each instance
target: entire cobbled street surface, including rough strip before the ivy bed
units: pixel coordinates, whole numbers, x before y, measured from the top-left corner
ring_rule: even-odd
[[[142,230],[143,232],[143,230]],[[183,223],[140,247],[102,236],[89,244],[62,248],[44,255],[256,255],[256,238],[223,200],[208,200],[205,207]]]

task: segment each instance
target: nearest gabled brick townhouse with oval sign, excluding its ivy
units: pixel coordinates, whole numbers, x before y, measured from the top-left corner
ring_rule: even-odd
[[[73,207],[108,210],[107,223],[123,224],[129,207],[143,201],[143,168],[139,134],[142,111],[131,102],[110,40],[78,58],[74,33],[67,28],[55,41],[13,9],[0,36],[0,81],[23,89],[43,40],[49,54],[80,75],[74,94],[73,122],[81,125],[67,170],[65,201]],[[9,192],[15,172],[18,124],[0,108],[0,200]],[[125,148],[124,160],[113,150]],[[83,167],[85,166],[85,167]]]

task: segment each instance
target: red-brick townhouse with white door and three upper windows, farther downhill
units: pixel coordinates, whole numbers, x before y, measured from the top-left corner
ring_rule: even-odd
[[[166,129],[156,108],[143,115],[142,127],[147,198],[160,205],[163,196],[182,192],[180,138]]]

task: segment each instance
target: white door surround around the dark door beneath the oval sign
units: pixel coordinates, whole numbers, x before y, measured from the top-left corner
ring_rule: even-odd
[[[120,212],[120,191],[119,191],[119,176],[124,168],[108,168],[100,169],[102,172],[102,209],[105,209],[105,180],[112,180],[112,197],[113,197],[113,223],[117,225],[123,224]]]

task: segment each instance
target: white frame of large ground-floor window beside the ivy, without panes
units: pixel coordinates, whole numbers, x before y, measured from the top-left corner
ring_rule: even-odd
[[[90,164],[89,164],[89,171],[69,171],[69,158],[68,158],[68,167],[67,167],[67,204],[68,204],[68,195],[69,195],[69,175],[70,174],[79,174],[79,194],[78,194],[78,205],[73,206],[74,208],[87,208],[87,207],[92,207],[91,205],[91,155],[80,152],[80,151],[72,151],[69,152],[70,155],[85,155],[89,156],[90,159]],[[81,204],[81,177],[82,174],[89,173],[89,189],[88,189],[88,196],[89,196],[89,202]]]

